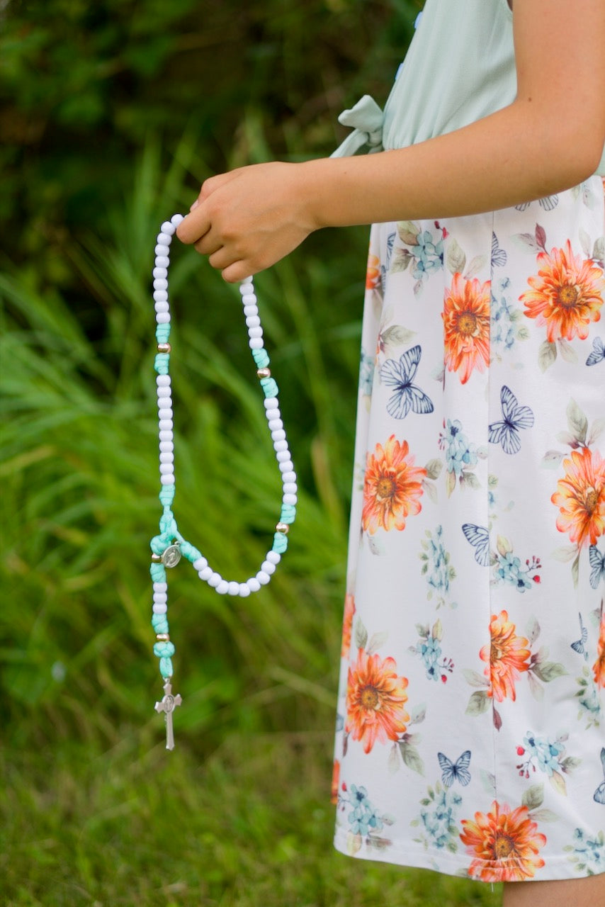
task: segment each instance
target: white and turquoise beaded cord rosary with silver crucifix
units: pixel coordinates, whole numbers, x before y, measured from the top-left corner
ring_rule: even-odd
[[[181,696],[172,693],[172,656],[174,644],[171,642],[168,629],[168,582],[166,568],[175,567],[181,557],[193,565],[200,580],[204,580],[220,595],[239,595],[246,597],[250,592],[258,592],[261,586],[267,585],[275,572],[281,555],[288,548],[288,529],[294,522],[297,503],[297,476],[288,450],[288,441],[281,421],[278,406],[278,385],[271,377],[268,353],[263,346],[262,327],[260,326],[257,297],[254,294],[252,278],[245,279],[239,286],[241,301],[248,327],[249,347],[257,366],[257,375],[265,395],[265,415],[271,433],[273,447],[278,459],[282,481],[282,499],[279,522],[275,527],[273,545],[265,561],[260,565],[256,576],[245,582],[223,580],[220,573],[213,571],[206,558],[189,541],[186,541],[177,528],[172,502],[174,501],[174,435],[172,433],[172,396],[169,364],[171,345],[168,342],[171,333],[171,311],[168,301],[168,266],[170,264],[171,240],[183,216],[175,214],[170,220],[162,223],[156,239],[155,267],[153,268],[153,301],[157,327],[155,336],[158,354],[154,368],[158,373],[156,384],[158,390],[158,429],[160,439],[160,502],[163,512],[160,519],[160,534],[151,539],[151,580],[153,583],[153,615],[151,626],[156,635],[153,646],[154,654],[160,659],[160,673],[164,679],[164,696],[156,702],[156,712],[163,712],[166,722],[166,749],[174,748],[172,731],[172,712],[181,705]]]

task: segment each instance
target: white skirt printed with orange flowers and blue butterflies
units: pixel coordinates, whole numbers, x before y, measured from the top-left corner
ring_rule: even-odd
[[[605,200],[375,225],[335,844],[605,872]]]

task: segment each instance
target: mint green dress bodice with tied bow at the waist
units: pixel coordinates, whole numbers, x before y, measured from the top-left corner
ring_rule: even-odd
[[[340,122],[356,127],[335,152],[405,148],[461,129],[512,103],[517,75],[507,0],[426,0],[386,101],[368,95]],[[605,174],[605,150],[597,171]]]

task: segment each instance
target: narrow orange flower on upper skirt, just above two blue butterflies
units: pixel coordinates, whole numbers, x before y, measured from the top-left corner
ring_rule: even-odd
[[[490,298],[489,280],[480,284],[462,274],[454,274],[452,288],[445,290],[445,365],[460,375],[463,385],[473,368],[483,372],[490,362]]]

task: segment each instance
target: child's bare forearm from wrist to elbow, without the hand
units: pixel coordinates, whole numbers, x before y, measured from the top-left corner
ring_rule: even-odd
[[[569,189],[600,159],[573,124],[514,102],[464,129],[355,158],[308,161],[304,180],[317,228],[436,219],[508,208]]]

